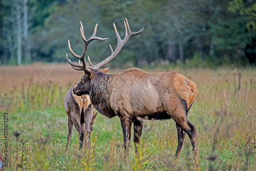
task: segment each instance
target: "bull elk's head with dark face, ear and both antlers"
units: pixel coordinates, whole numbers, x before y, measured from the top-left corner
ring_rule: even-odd
[[[80,27],[80,31],[81,31],[81,36],[84,42],[84,48],[83,48],[83,52],[82,54],[76,55],[71,46],[70,46],[70,41],[69,41],[69,49],[70,52],[72,53],[73,56],[75,56],[76,58],[80,59],[82,61],[82,65],[78,65],[77,63],[73,63],[71,62],[71,60],[68,58],[68,54],[66,55],[66,59],[67,61],[70,63],[70,65],[72,66],[72,68],[74,68],[75,70],[82,70],[84,71],[84,76],[81,78],[81,81],[78,83],[77,87],[73,90],[74,94],[76,94],[77,96],[81,96],[83,94],[89,94],[90,90],[91,90],[91,79],[94,76],[94,74],[99,74],[102,73],[104,74],[106,71],[109,70],[109,68],[103,69],[103,70],[99,70],[100,67],[102,67],[103,65],[105,65],[106,63],[108,63],[110,60],[112,60],[122,49],[122,47],[124,46],[124,44],[134,35],[140,34],[143,31],[143,28],[138,31],[138,32],[131,32],[131,29],[129,27],[128,21],[125,18],[124,21],[124,27],[125,27],[125,37],[124,39],[121,39],[119,33],[117,32],[116,26],[114,25],[114,30],[116,33],[116,37],[117,37],[117,47],[116,50],[114,51],[110,45],[110,49],[111,49],[111,55],[104,59],[103,61],[99,62],[97,65],[92,65],[90,58],[88,56],[88,60],[90,63],[90,66],[87,66],[87,62],[86,62],[86,52],[88,49],[88,45],[92,40],[106,40],[108,38],[100,38],[100,37],[96,37],[96,31],[97,31],[97,26],[98,24],[96,24],[93,35],[87,40],[86,37],[84,36],[84,32],[83,32],[83,26],[81,23],[81,27]],[[80,62],[79,60],[79,62]]]

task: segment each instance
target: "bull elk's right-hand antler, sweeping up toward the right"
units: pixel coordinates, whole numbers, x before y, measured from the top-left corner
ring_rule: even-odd
[[[131,29],[129,27],[129,24],[128,24],[128,21],[127,19],[125,18],[125,21],[124,21],[124,27],[125,27],[125,37],[124,39],[121,39],[120,38],[120,35],[118,34],[117,32],[117,29],[116,29],[116,26],[115,24],[114,25],[114,29],[115,29],[115,32],[116,32],[116,37],[117,37],[117,47],[116,47],[116,50],[113,51],[111,45],[110,45],[110,49],[111,49],[111,55],[106,58],[105,60],[99,62],[97,65],[93,66],[91,61],[90,61],[90,58],[88,56],[88,60],[89,60],[89,63],[90,65],[92,66],[92,68],[94,69],[99,69],[100,67],[102,67],[103,65],[105,65],[106,63],[108,63],[110,60],[112,60],[119,52],[120,50],[122,49],[122,47],[124,46],[124,44],[134,35],[137,35],[137,34],[140,34],[142,31],[143,31],[143,28],[138,31],[138,32],[131,32]]]

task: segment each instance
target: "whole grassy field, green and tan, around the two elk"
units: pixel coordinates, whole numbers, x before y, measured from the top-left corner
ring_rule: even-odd
[[[144,121],[139,157],[133,142],[129,156],[124,157],[119,118],[103,115],[93,125],[91,148],[79,152],[73,128],[65,155],[68,118],[63,101],[83,72],[69,65],[37,63],[0,67],[0,154],[8,155],[5,170],[256,170],[255,68],[147,71],[177,71],[197,83],[198,96],[188,114],[197,127],[196,157],[186,136],[180,157],[174,158],[173,120]],[[8,113],[8,153],[4,113]]]

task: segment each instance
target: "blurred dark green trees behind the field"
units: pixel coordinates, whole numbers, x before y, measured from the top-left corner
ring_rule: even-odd
[[[79,24],[90,37],[109,37],[92,42],[88,49],[93,63],[110,55],[116,45],[112,23],[124,33],[123,20],[133,37],[111,66],[149,65],[156,62],[193,63],[215,67],[224,63],[255,63],[256,2],[253,0],[10,0],[1,1],[0,62],[20,64],[34,61],[63,61],[69,53],[67,40],[76,53],[82,52]],[[18,7],[17,7],[18,6]],[[249,59],[247,60],[246,57]]]

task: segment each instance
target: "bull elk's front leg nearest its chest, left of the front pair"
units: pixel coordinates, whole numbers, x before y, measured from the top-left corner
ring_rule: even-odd
[[[127,154],[127,147],[130,145],[131,133],[132,133],[132,121],[129,118],[121,119],[121,126],[123,131],[123,145],[124,154]]]

